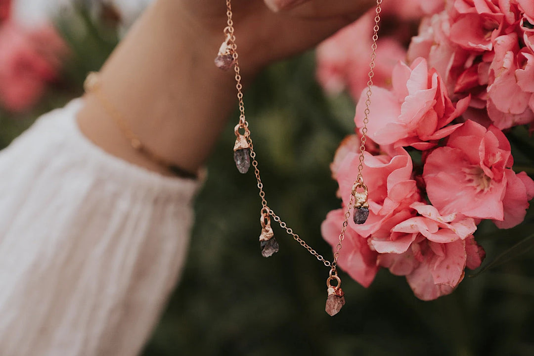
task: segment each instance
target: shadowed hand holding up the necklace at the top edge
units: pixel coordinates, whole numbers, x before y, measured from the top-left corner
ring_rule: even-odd
[[[176,2],[188,26],[220,44],[226,26],[224,0]],[[356,20],[375,0],[233,0],[232,11],[240,64],[256,72],[273,61],[305,51]],[[207,41],[205,43],[210,43]],[[218,45],[212,45],[212,52]]]

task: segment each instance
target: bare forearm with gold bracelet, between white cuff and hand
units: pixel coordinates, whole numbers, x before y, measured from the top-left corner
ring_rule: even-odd
[[[195,172],[205,162],[235,104],[233,75],[213,64],[219,34],[180,13],[176,1],[148,9],[106,62],[100,94],[152,153]],[[224,13],[224,12],[223,12]],[[105,151],[168,173],[133,149],[96,96],[78,115],[82,132]]]

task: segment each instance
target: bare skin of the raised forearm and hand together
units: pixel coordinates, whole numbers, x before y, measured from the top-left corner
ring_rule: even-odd
[[[312,48],[374,0],[233,0],[245,84],[271,62]],[[100,71],[101,93],[154,154],[197,172],[237,104],[233,71],[213,60],[224,40],[224,0],[157,0]],[[130,146],[94,95],[78,113],[81,131],[121,159],[170,175]]]

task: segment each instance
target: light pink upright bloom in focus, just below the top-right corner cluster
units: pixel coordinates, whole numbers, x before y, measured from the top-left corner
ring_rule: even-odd
[[[356,126],[363,126],[365,92],[356,106]],[[436,70],[428,70],[423,58],[410,67],[399,63],[393,72],[393,89],[374,87],[371,114],[367,125],[369,137],[380,145],[413,146],[428,149],[450,135],[457,125],[447,126],[465,111],[469,98],[452,104],[447,89]]]

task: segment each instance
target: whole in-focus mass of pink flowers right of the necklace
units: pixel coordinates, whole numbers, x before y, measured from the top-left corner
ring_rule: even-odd
[[[523,221],[534,181],[512,170],[501,130],[534,121],[532,10],[526,0],[447,2],[423,19],[409,64],[392,68],[388,88],[372,88],[367,135],[378,147],[365,153],[363,171],[370,215],[363,225],[349,219],[338,262],[363,286],[383,267],[406,276],[420,299],[449,294],[484,258],[473,236],[482,220],[499,228]],[[360,129],[365,99],[356,107]],[[358,143],[345,139],[331,166],[343,200],[322,225],[333,247]]]

